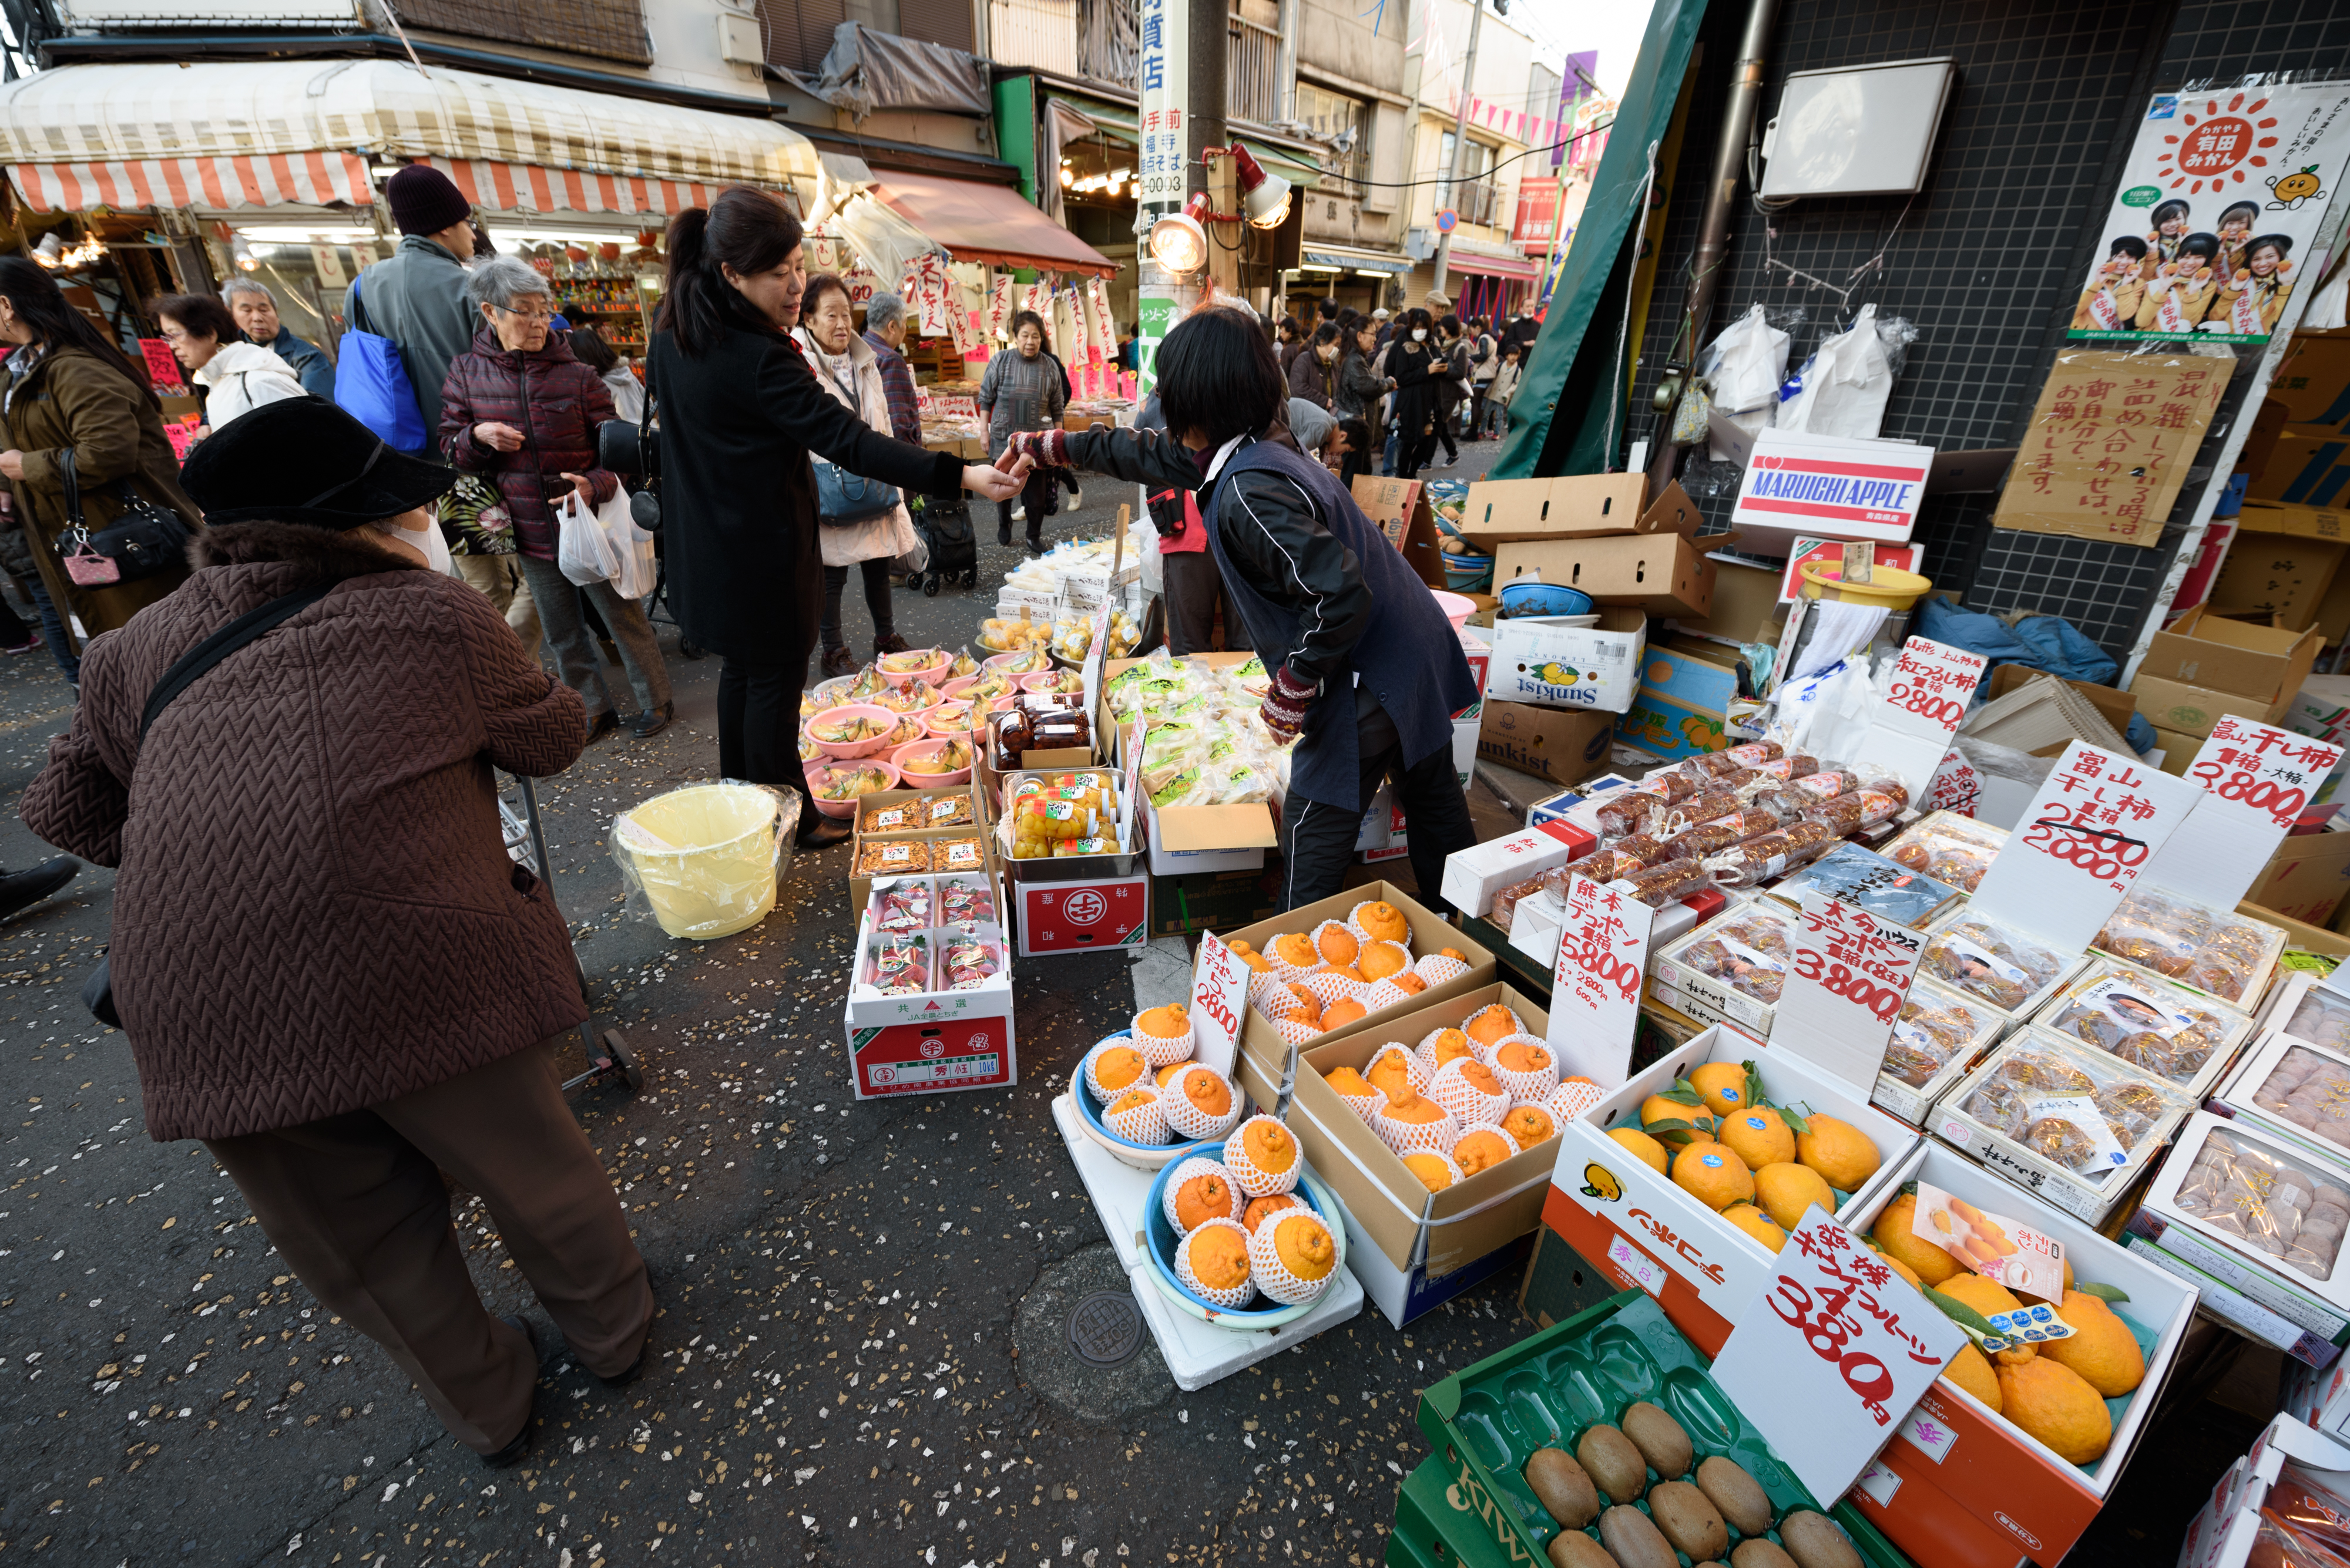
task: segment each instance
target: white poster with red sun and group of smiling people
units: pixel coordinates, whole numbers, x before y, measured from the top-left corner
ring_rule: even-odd
[[[2070,336],[2265,340],[2310,275],[2345,160],[2350,82],[2155,94]]]

